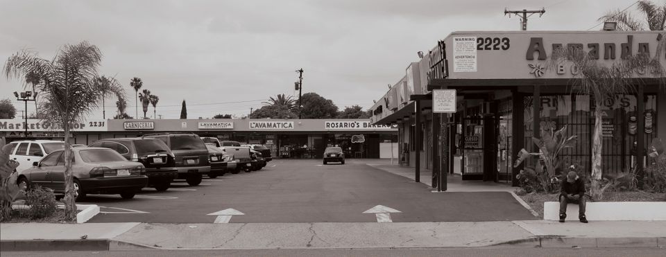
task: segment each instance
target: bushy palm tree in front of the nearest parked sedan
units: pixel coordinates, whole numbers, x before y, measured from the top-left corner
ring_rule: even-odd
[[[57,124],[65,130],[65,216],[67,220],[76,218],[76,197],[78,182],[71,174],[71,145],[69,132],[71,124],[83,122],[85,115],[98,107],[102,98],[101,90],[94,82],[102,54],[97,46],[88,42],[65,45],[58,55],[47,60],[31,51],[19,51],[7,60],[3,73],[7,78],[26,76],[33,73],[42,83],[38,86],[42,104],[40,112],[46,122]]]

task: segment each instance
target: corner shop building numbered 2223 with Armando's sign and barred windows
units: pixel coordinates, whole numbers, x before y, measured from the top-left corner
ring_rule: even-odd
[[[522,169],[512,166],[518,151],[538,151],[531,140],[534,132],[566,125],[567,134],[577,135],[578,143],[560,156],[590,172],[594,98],[572,88],[579,78],[578,67],[549,64],[553,49],[582,48],[606,66],[626,55],[645,53],[666,67],[666,37],[660,33],[455,32],[407,65],[404,76],[372,107],[371,121],[398,125],[400,156],[416,172],[438,171],[445,163],[444,170],[463,179],[513,186],[518,185],[515,175]],[[649,161],[648,145],[666,138],[666,97],[659,89],[660,78],[641,71],[633,81],[633,94],[603,103],[606,174],[641,168]],[[434,89],[456,90],[454,114],[433,114]]]

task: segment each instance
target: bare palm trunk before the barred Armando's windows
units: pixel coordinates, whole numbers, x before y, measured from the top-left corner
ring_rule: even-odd
[[[601,198],[601,99],[595,100],[595,131],[592,134],[592,200]]]

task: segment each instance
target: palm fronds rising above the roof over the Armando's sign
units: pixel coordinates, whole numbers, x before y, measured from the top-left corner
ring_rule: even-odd
[[[649,30],[664,30],[666,24],[666,2],[663,6],[657,6],[647,0],[638,1],[638,10],[645,15],[647,28]],[[606,12],[598,21],[617,22],[617,30],[638,31],[645,30],[643,21],[635,19],[629,12],[622,10],[613,10]]]

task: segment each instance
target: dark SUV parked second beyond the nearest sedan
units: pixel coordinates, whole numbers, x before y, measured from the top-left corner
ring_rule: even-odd
[[[202,175],[210,172],[208,148],[199,136],[192,133],[147,134],[144,139],[160,139],[169,145],[176,159],[178,179],[187,180],[190,186],[201,183]]]

